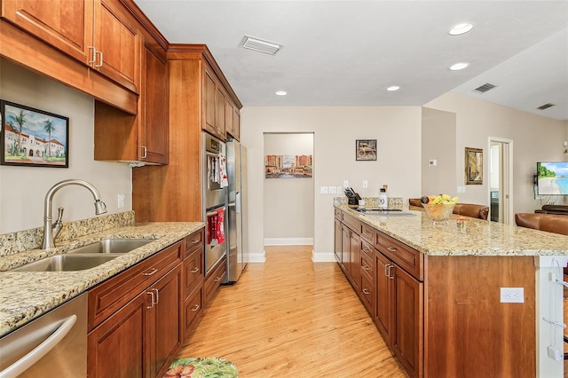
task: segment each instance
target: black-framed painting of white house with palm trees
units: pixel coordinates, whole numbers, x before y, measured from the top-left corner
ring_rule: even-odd
[[[0,100],[0,164],[68,168],[69,118]]]

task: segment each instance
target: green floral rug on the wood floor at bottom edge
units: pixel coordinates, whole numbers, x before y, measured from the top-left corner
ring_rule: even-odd
[[[225,358],[176,358],[164,378],[238,378],[237,366]]]

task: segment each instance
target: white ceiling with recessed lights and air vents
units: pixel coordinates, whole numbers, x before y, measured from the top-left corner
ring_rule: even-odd
[[[170,43],[206,43],[243,106],[422,106],[457,91],[568,120],[568,0],[135,2]],[[448,35],[461,21],[475,28]],[[245,50],[243,35],[284,48]],[[497,88],[473,91],[485,83]]]

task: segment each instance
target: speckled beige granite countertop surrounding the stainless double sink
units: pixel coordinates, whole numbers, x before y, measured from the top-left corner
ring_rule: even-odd
[[[80,295],[99,282],[122,272],[148,256],[182,240],[204,227],[202,222],[143,223],[91,233],[62,241],[49,251],[34,249],[0,257],[0,271],[26,264],[45,256],[66,253],[69,249],[106,238],[155,239],[143,247],[118,256],[95,268],[77,272],[0,272],[0,336],[31,319],[36,319],[61,303]]]

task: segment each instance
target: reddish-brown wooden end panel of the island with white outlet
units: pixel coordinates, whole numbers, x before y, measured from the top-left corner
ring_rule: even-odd
[[[537,376],[533,256],[428,256],[426,266],[425,376]],[[500,287],[523,287],[525,302],[501,303]]]

